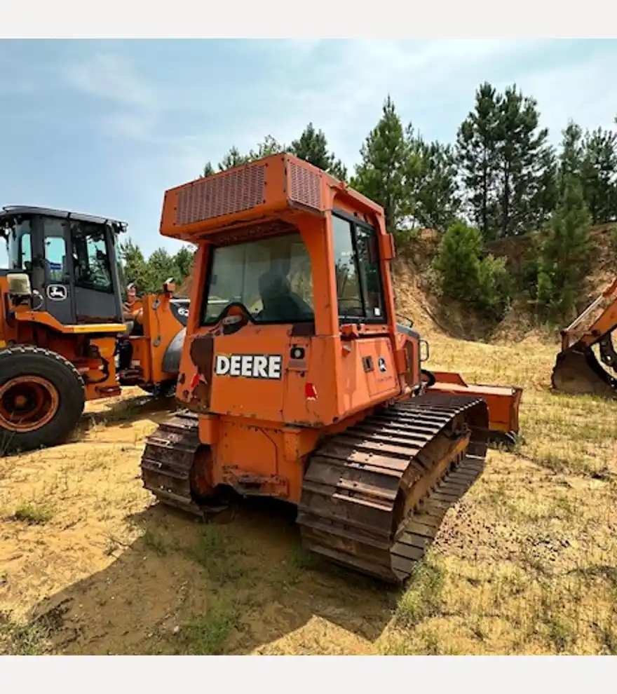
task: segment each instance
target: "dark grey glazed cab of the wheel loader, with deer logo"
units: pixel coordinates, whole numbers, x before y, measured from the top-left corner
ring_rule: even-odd
[[[43,207],[0,210],[10,271],[29,275],[33,308],[62,325],[123,322],[116,236],[125,228]]]

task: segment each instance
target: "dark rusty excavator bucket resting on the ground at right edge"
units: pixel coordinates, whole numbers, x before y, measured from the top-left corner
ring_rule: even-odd
[[[590,347],[572,346],[560,352],[551,382],[562,393],[617,399],[617,379],[604,370]]]

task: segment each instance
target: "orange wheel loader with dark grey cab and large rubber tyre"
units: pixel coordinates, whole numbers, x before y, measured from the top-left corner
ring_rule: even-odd
[[[175,392],[188,301],[172,297],[168,280],[125,317],[116,261],[125,230],[65,210],[0,210],[9,265],[0,269],[3,452],[62,442],[87,400],[122,386]]]

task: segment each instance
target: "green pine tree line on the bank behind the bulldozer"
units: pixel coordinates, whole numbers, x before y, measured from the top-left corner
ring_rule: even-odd
[[[412,243],[418,229],[442,232],[435,261],[442,291],[496,318],[521,290],[542,320],[571,313],[588,273],[588,229],[617,219],[617,133],[583,131],[570,120],[555,146],[541,126],[538,103],[516,85],[500,92],[480,84],[473,108],[447,143],[426,140],[386,97],[351,174],[313,123],[289,144],[267,135],[247,153],[231,147],[217,170],[283,151],[382,205],[399,247]],[[201,176],[214,172],[208,161]],[[522,235],[529,236],[533,252],[524,286],[515,287],[505,260],[488,254],[485,245]],[[134,266],[151,263],[137,258],[137,247],[131,252]],[[160,250],[155,254],[153,272],[173,264]]]

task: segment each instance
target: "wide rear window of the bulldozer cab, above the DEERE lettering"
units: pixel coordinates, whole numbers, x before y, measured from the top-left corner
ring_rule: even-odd
[[[204,325],[234,302],[259,323],[313,320],[311,259],[299,233],[215,248],[208,275]]]

